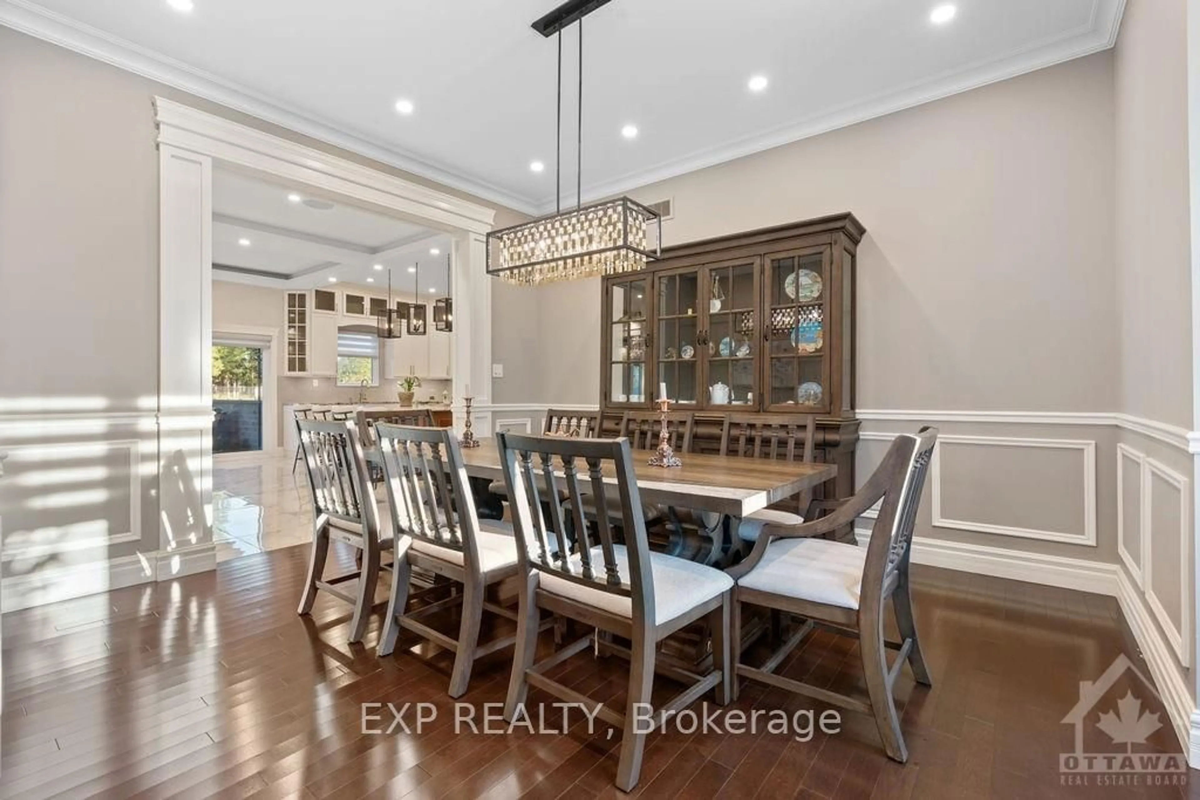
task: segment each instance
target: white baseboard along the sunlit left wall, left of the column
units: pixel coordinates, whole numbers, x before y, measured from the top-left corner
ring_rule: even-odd
[[[181,578],[215,570],[216,565],[216,546],[206,542],[178,551],[134,553],[108,561],[14,575],[0,582],[0,607],[5,612],[22,610],[140,583]]]

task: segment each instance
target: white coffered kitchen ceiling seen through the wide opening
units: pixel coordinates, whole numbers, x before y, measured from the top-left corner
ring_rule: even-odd
[[[301,201],[289,199],[292,194]],[[325,198],[313,198],[305,187],[214,169],[214,276],[276,288],[324,287],[335,278],[383,293],[390,267],[397,291],[412,293],[419,277],[421,294],[431,288],[445,294],[450,236],[332,198],[334,207],[325,210],[308,207],[305,199]],[[416,266],[419,272],[409,271]]]

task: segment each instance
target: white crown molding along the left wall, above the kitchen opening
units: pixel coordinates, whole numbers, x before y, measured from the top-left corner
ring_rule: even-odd
[[[463,175],[450,167],[406,152],[367,134],[347,130],[332,120],[281,103],[246,86],[197,70],[29,0],[0,0],[0,25],[510,209],[533,213],[539,205],[532,198]]]

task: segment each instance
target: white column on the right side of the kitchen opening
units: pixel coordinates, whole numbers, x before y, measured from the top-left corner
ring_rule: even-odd
[[[463,233],[454,242],[454,411],[462,431],[462,397],[470,386],[472,429],[492,435],[492,281],[485,271],[485,236]]]

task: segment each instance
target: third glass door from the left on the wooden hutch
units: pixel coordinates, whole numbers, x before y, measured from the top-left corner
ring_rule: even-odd
[[[701,338],[707,363],[702,399],[707,408],[756,405],[755,363],[761,344],[755,327],[757,276],[757,258],[710,264],[704,270],[708,300]]]

